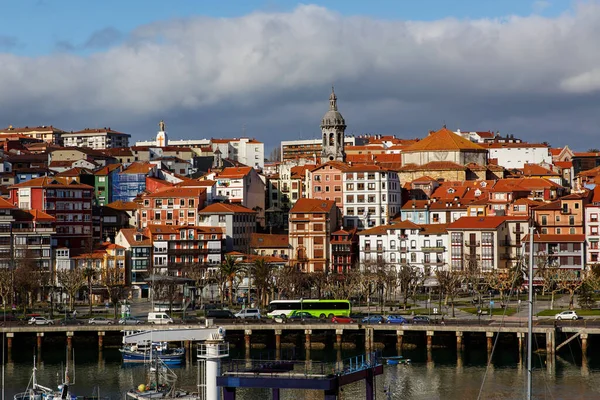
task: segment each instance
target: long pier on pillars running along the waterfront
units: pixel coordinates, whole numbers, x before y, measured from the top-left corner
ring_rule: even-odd
[[[226,329],[228,340],[230,337],[242,338],[242,345],[250,349],[253,344],[253,336],[268,336],[269,343],[276,348],[282,346],[282,337],[287,335],[301,335],[304,347],[307,349],[316,345],[316,336],[327,336],[328,342],[333,342],[334,348],[340,348],[345,344],[344,339],[349,336],[359,338],[359,343],[364,343],[364,350],[370,352],[373,346],[383,337],[389,341],[390,337],[395,340],[396,347],[402,348],[409,338],[423,342],[430,349],[435,346],[440,338],[445,343],[452,337],[457,349],[462,349],[469,342],[485,340],[486,348],[491,351],[494,339],[497,335],[510,336],[517,343],[519,350],[524,348],[524,339],[527,337],[526,322],[520,320],[448,320],[445,324],[332,324],[327,322],[296,322],[278,324],[270,320],[263,321],[241,321],[235,323],[219,323]],[[102,348],[108,338],[123,336],[123,331],[136,330],[161,330],[161,329],[203,329],[198,324],[173,324],[173,325],[77,325],[77,326],[40,326],[40,325],[12,325],[2,326],[0,331],[6,333],[6,345],[10,349],[15,340],[24,337],[35,337],[38,349],[41,349],[44,341],[49,338],[64,337],[67,346],[80,337],[96,337],[98,347]],[[587,352],[590,341],[594,337],[600,337],[600,321],[560,321],[555,324],[554,320],[539,319],[533,327],[533,334],[546,343],[545,350],[549,354],[560,350],[568,341],[580,340],[583,352]],[[120,340],[119,340],[120,341]]]

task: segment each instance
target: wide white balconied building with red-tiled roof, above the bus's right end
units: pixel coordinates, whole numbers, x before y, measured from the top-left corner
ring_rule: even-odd
[[[360,232],[362,264],[384,263],[399,269],[411,266],[426,276],[447,269],[448,233],[445,224],[417,225],[399,221]]]

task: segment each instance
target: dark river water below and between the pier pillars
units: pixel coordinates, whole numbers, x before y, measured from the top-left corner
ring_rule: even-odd
[[[12,400],[15,393],[27,387],[31,377],[35,347],[13,348],[5,364],[5,398]],[[234,351],[232,351],[234,353]],[[304,352],[303,352],[304,353]],[[536,399],[598,399],[600,398],[600,359],[593,357],[593,349],[587,360],[581,359],[581,349],[573,346],[548,366],[544,356],[535,356],[534,398]],[[75,384],[72,392],[90,395],[100,389],[101,396],[123,399],[124,393],[144,382],[143,366],[124,367],[117,348],[98,352],[95,346],[75,343]],[[395,349],[383,355],[396,355]],[[254,354],[256,355],[256,354]],[[351,352],[336,354],[335,350],[310,352],[311,360],[335,361],[336,357],[349,357]],[[450,349],[424,349],[404,351],[413,360],[410,366],[384,367],[384,374],[376,378],[376,398],[385,399],[523,399],[525,397],[526,368],[519,363],[514,349],[497,349],[492,366],[486,368],[487,354],[471,350],[461,357]],[[8,358],[7,354],[7,358]],[[232,354],[236,357],[238,355]],[[302,354],[301,357],[305,355]],[[38,382],[55,386],[57,376],[64,369],[66,354],[63,346],[46,346],[38,356]],[[5,359],[5,361],[7,361]],[[181,386],[191,390],[197,383],[197,364],[189,361],[174,369],[180,377]],[[389,394],[388,394],[389,391]],[[344,387],[342,399],[363,399],[364,382]],[[266,400],[271,398],[268,390],[239,390],[237,399]],[[282,399],[321,399],[319,392],[286,391]]]

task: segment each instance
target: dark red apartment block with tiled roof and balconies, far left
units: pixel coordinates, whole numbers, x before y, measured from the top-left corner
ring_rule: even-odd
[[[56,218],[54,247],[91,247],[94,187],[67,178],[42,177],[9,187],[9,201],[22,210],[38,210]]]

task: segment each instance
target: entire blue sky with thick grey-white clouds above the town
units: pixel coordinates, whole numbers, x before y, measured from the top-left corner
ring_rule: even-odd
[[[446,125],[598,147],[600,0],[3,0],[0,126],[153,139]]]

